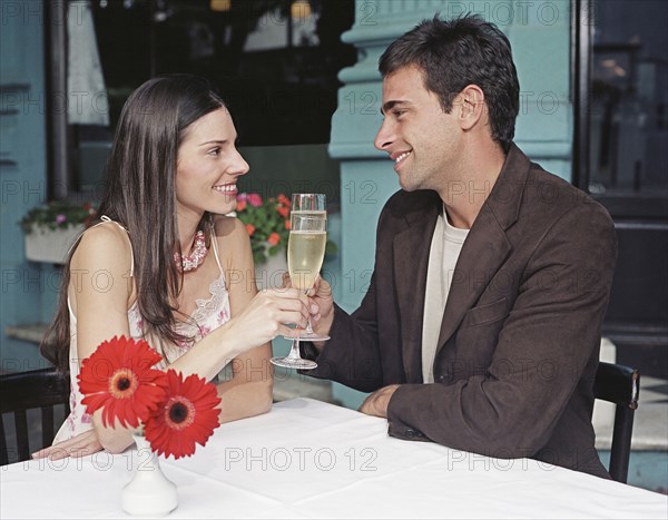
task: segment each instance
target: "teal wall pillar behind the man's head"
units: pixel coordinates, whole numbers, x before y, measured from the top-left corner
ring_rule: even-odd
[[[341,305],[354,311],[374,262],[377,217],[399,189],[386,154],[373,147],[381,125],[377,60],[390,42],[425,18],[478,12],[503,30],[513,47],[521,88],[515,141],[546,169],[570,179],[572,106],[570,2],[357,0],[355,23],[342,39],[358,49],[358,61],[338,78],[338,108],[332,119],[330,154],[341,161]],[[334,385],[334,396],[356,408],[364,394]]]

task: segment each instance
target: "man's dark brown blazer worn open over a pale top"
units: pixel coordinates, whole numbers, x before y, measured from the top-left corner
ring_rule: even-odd
[[[495,458],[533,458],[600,477],[592,383],[617,255],[599,204],[512,146],[463,244],[423,384],[429,251],[442,202],[399,192],[379,220],[370,290],[310,375],[362,391],[402,386],[393,436]]]

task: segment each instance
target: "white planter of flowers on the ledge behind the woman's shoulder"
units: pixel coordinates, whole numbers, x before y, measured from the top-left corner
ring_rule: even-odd
[[[52,200],[33,207],[19,222],[26,234],[26,258],[62,264],[69,248],[95,217],[91,203]]]

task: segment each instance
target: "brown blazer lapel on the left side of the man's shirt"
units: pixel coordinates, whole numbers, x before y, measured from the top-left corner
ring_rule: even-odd
[[[438,197],[436,197],[438,198]],[[438,199],[440,202],[440,198]],[[409,226],[392,244],[394,279],[401,316],[401,340],[406,382],[422,382],[422,322],[429,252],[440,206],[406,215]]]

